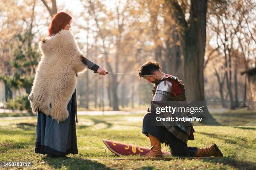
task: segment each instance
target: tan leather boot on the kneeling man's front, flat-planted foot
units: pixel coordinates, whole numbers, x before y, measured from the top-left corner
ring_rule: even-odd
[[[151,144],[151,151],[147,153],[144,158],[162,158],[162,152],[161,152],[161,143],[158,138],[148,134],[150,144]]]

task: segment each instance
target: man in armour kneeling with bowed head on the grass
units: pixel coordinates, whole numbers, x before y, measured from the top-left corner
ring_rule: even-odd
[[[161,65],[156,61],[147,61],[139,69],[140,77],[154,83],[153,101],[185,101],[186,94],[184,85],[173,75],[161,72]],[[177,122],[177,126],[154,126],[151,125],[151,112],[143,118],[142,133],[149,137],[151,151],[146,158],[162,157],[161,143],[167,143],[170,152],[180,157],[210,157],[223,156],[216,144],[209,148],[188,147],[187,141],[194,140],[195,132],[192,125],[185,126]],[[179,124],[178,124],[179,123]]]

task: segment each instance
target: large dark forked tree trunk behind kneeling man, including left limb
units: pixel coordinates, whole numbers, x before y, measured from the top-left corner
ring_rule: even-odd
[[[177,1],[166,0],[170,12],[179,25],[179,35],[184,54],[184,77],[187,100],[205,100],[204,59],[206,42],[207,0],[190,0],[190,18],[187,23],[182,7]],[[206,105],[205,105],[206,106]],[[205,108],[207,122],[217,123]],[[205,123],[207,123],[205,122]]]

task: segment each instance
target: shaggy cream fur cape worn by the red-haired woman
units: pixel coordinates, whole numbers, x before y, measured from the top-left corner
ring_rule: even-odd
[[[86,66],[70,31],[61,30],[55,36],[39,42],[42,52],[28,99],[32,111],[40,110],[58,122],[67,119],[67,104],[77,85],[76,73]]]

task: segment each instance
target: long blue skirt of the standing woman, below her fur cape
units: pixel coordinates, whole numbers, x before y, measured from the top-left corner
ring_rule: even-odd
[[[57,122],[43,112],[37,112],[35,153],[64,156],[77,154],[76,135],[76,90],[68,105],[69,117]]]

